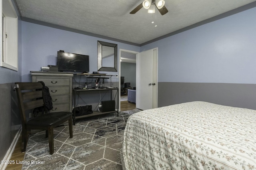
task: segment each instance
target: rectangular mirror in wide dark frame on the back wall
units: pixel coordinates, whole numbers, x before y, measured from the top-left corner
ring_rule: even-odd
[[[117,44],[98,41],[98,71],[117,72]]]

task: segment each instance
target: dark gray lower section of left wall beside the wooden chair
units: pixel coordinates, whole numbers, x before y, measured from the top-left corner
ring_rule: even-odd
[[[0,160],[4,159],[21,126],[16,91],[13,88],[14,83],[0,84]]]

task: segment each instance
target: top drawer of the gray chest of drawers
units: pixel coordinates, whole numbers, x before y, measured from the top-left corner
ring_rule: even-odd
[[[69,86],[69,78],[36,78],[36,81],[43,81],[47,87],[50,86]]]

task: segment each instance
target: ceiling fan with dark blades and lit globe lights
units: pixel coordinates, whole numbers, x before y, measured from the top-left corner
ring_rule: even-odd
[[[134,10],[130,12],[130,14],[135,14],[142,7],[148,10],[148,13],[155,13],[154,6],[157,7],[158,11],[161,15],[164,15],[168,12],[167,8],[164,6],[164,0],[144,0],[141,4],[139,4]]]

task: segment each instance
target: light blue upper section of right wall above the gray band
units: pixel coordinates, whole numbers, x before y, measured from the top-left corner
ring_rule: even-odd
[[[256,84],[256,8],[141,47],[158,47],[158,82]]]

